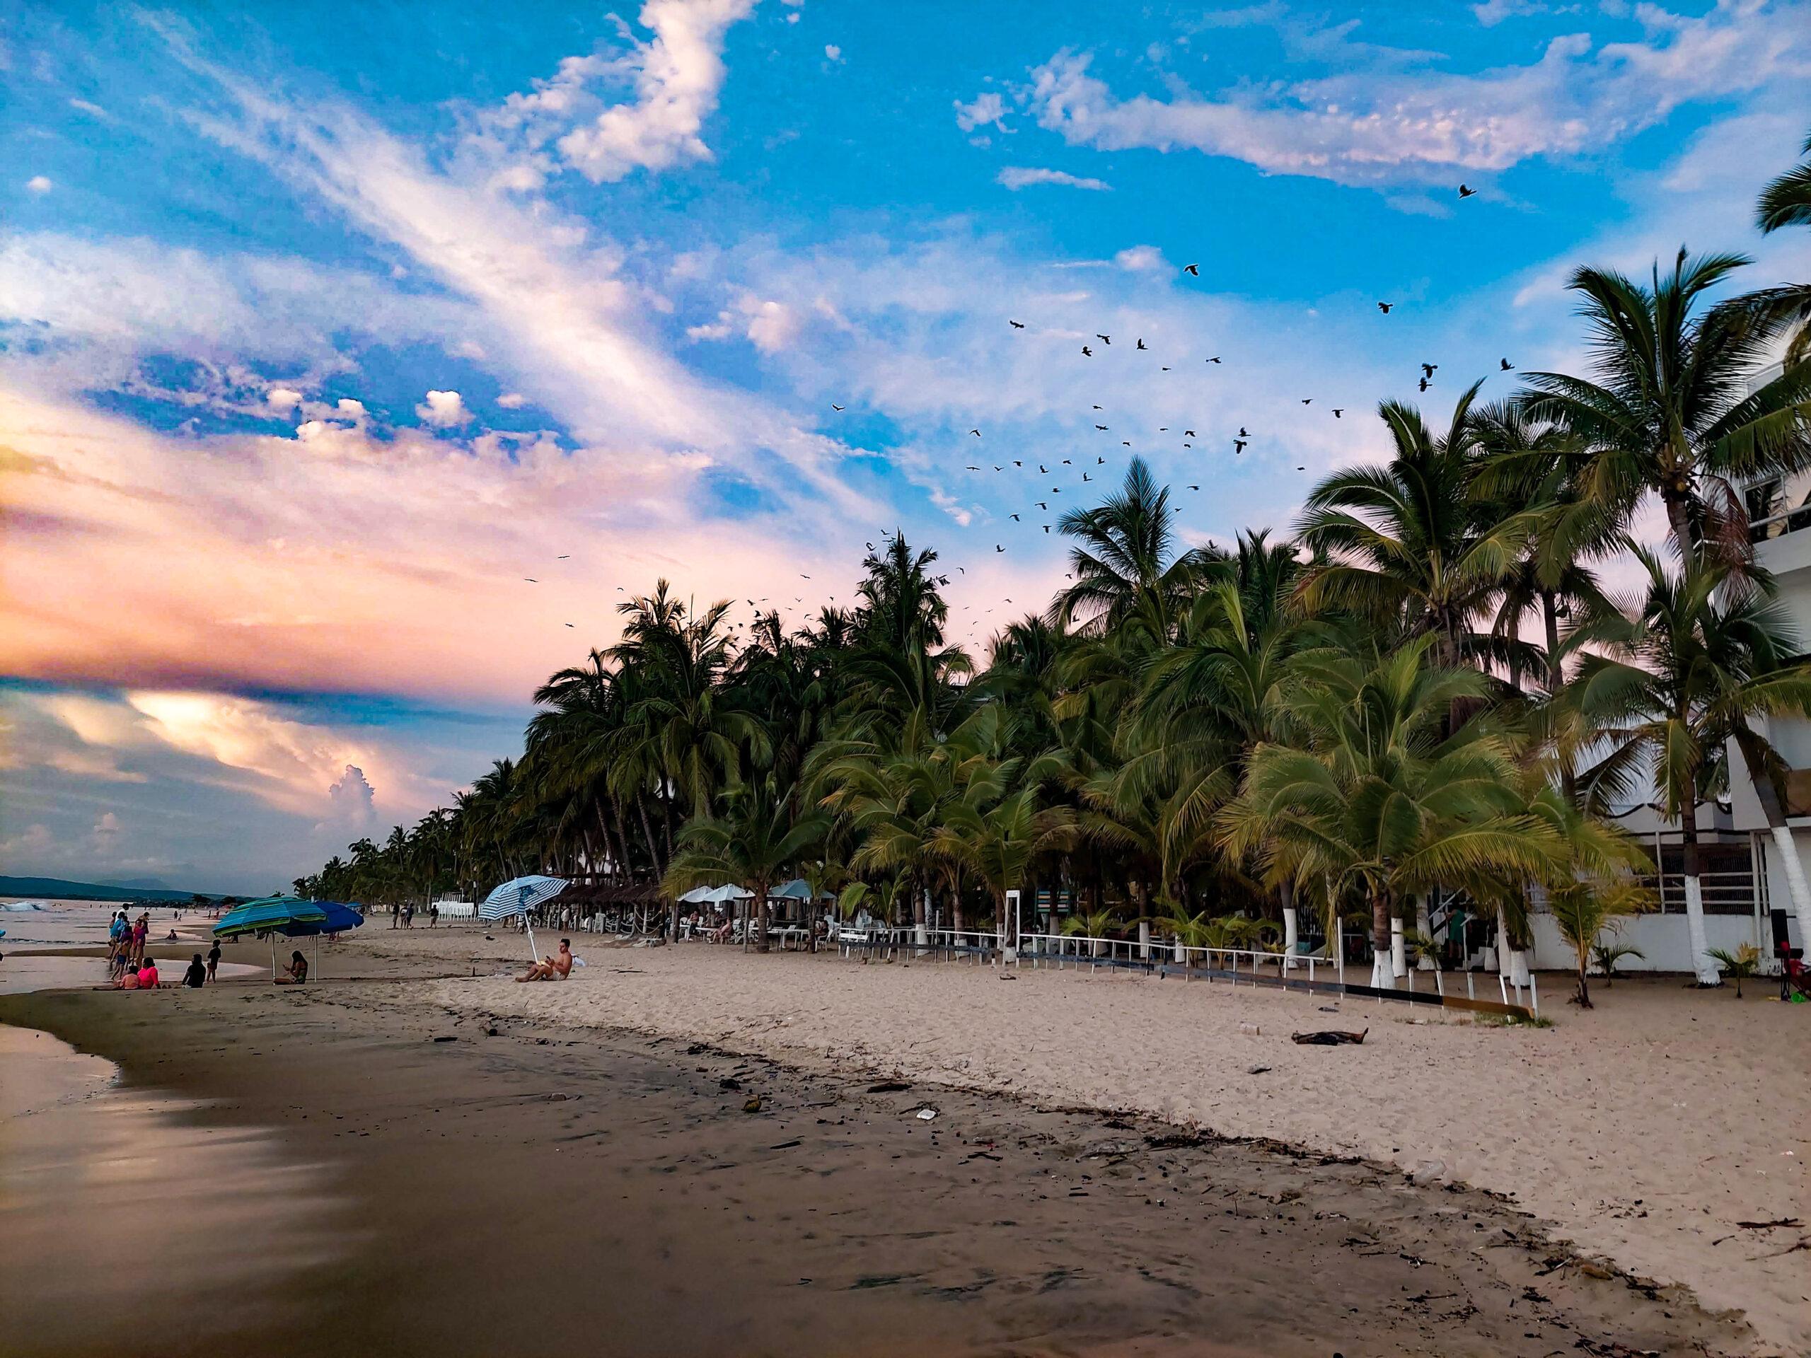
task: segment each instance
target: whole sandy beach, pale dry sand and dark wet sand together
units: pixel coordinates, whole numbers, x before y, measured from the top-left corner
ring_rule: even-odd
[[[304,1197],[331,1220],[308,1219],[321,1258],[292,1289],[377,1271],[359,1325],[458,1320],[411,1322],[398,1353],[509,1351],[496,1315],[574,1298],[556,1347],[647,1336],[621,1353],[1806,1349],[1807,1233],[1739,1224],[1806,1202],[1806,1043],[1766,987],[1619,981],[1579,1014],[1554,978],[1554,1027],[1498,1028],[1108,972],[576,945],[572,981],[516,985],[520,934],[375,920],[301,992],[14,996],[0,1018],[319,1166]],[[1369,1036],[1289,1041],[1311,1027]],[[730,1248],[699,1204],[741,1217]],[[491,1320],[431,1262],[471,1222],[536,1257],[507,1304],[487,1284]],[[281,1316],[328,1344],[306,1305]]]

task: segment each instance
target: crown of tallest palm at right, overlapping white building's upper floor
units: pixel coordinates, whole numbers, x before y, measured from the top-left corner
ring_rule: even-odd
[[[1744,255],[1684,250],[1650,286],[1581,268],[1597,378],[1527,373],[1525,407],[1590,451],[1585,489],[1619,521],[1653,491],[1666,509],[1673,550],[1711,543],[1748,563],[1748,516],[1739,483],[1811,465],[1811,368],[1787,368],[1749,389],[1802,306],[1771,288],[1704,304],[1704,295],[1748,264]]]

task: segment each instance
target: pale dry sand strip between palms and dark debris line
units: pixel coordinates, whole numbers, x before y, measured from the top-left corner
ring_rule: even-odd
[[[500,943],[507,956],[516,940]],[[420,931],[375,931],[360,947],[446,951]],[[1306,996],[1114,972],[1027,969],[1001,981],[949,963],[703,945],[590,952],[599,965],[565,985],[451,980],[427,998],[1362,1155],[1503,1193],[1583,1251],[1740,1309],[1778,1351],[1811,1347],[1811,1266],[1791,1249],[1811,1235],[1739,1226],[1804,1219],[1807,1204],[1811,1030],[1764,983],[1737,1001],[1675,980],[1617,981],[1579,1012],[1554,976],[1552,1028],[1494,1028],[1349,999],[1326,1014]],[[1315,1027],[1369,1027],[1371,1038],[1289,1041]],[[1250,1074],[1257,1065],[1268,1070]]]

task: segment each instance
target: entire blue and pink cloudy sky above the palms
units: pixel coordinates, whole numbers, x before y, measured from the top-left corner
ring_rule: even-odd
[[[1134,451],[1288,529],[1380,398],[1581,368],[1579,263],[1811,268],[1780,0],[4,13],[14,873],[272,889],[657,576],[797,617],[904,527],[983,646]]]

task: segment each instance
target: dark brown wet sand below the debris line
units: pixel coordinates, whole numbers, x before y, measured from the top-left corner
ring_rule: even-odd
[[[177,1179],[228,1162],[208,1141],[255,1148],[219,1191],[168,1206],[228,1260],[270,1271],[219,1287],[185,1257],[139,1278],[150,1351],[1356,1358],[1749,1344],[1737,1320],[1579,1260],[1476,1190],[397,998],[375,980],[0,998],[0,1021],[120,1063],[110,1097],[154,1105],[188,1137],[165,1152]],[[934,1121],[913,1115],[924,1105]],[[71,1117],[62,1155],[118,1157],[103,1123]],[[0,1277],[27,1277],[11,1242],[22,1228],[45,1238],[53,1215],[71,1257],[120,1233],[105,1182],[62,1186],[54,1200],[7,1191]],[[129,1238],[158,1260],[156,1217],[132,1219]],[[7,1353],[145,1353],[138,1307],[98,1286],[101,1304],[81,1305],[81,1282],[74,1296],[0,1289]]]

